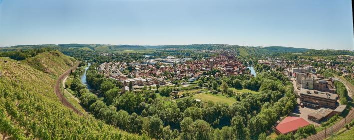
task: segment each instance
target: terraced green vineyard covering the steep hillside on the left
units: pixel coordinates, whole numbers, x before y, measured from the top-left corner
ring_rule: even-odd
[[[56,53],[57,52],[57,53]],[[45,56],[48,56],[47,59]],[[61,59],[58,59],[60,57]],[[34,64],[0,57],[0,136],[15,140],[139,140],[91,116],[79,116],[59,102],[53,76],[69,69],[58,51],[36,56],[50,75]],[[24,60],[25,61],[25,60]],[[28,62],[28,61],[27,61]],[[29,61],[33,62],[33,61]],[[46,66],[45,66],[46,65]],[[43,70],[43,69],[42,69]]]

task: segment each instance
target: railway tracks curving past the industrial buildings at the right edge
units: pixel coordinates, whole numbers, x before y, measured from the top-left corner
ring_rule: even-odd
[[[340,80],[340,81],[343,82],[342,80]],[[343,83],[348,90],[348,95],[353,95],[353,93],[352,93],[353,91],[351,91],[349,89],[348,85],[346,85],[345,82],[343,82]],[[349,97],[352,98],[351,96],[349,96]],[[350,100],[352,100],[352,99],[350,99]],[[326,130],[321,131],[321,132],[317,133],[316,135],[308,137],[306,140],[324,140],[325,138],[331,137],[332,133],[335,134],[336,132],[338,132],[339,130],[344,128],[346,124],[350,123],[353,120],[353,118],[354,118],[354,110],[352,108],[345,119],[342,119],[339,123],[333,125],[332,128],[327,128],[327,131]]]

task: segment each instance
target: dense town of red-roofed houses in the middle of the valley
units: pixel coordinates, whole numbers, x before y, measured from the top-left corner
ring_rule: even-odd
[[[168,61],[176,62],[176,57],[167,57]],[[175,60],[174,60],[175,59]],[[166,62],[166,61],[165,61]],[[188,78],[193,82],[200,78],[203,72],[211,71],[213,68],[220,70],[215,78],[223,75],[238,75],[249,73],[248,68],[237,60],[233,55],[219,55],[208,59],[188,60],[183,63],[165,64],[143,59],[138,61],[109,62],[102,63],[98,67],[99,73],[105,74],[121,81],[124,85],[132,83],[133,86],[166,84],[165,80],[175,81]],[[130,70],[130,71],[128,71]]]

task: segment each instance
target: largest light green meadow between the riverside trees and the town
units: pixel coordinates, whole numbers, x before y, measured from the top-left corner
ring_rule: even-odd
[[[200,99],[205,103],[212,101],[212,102],[221,102],[221,103],[227,103],[229,105],[232,105],[233,103],[236,102],[235,98],[226,97],[226,95],[223,96],[222,94],[200,93],[200,94],[193,95],[193,97],[195,99]]]

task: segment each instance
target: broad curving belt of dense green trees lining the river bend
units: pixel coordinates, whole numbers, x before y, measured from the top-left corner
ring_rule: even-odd
[[[108,124],[132,133],[146,133],[156,139],[257,139],[296,105],[292,84],[279,72],[263,72],[251,79],[247,75],[220,80],[202,76],[202,85],[210,88],[222,83],[240,88],[243,87],[241,80],[245,80],[250,83],[245,87],[260,91],[260,94],[237,95],[238,102],[229,106],[219,102],[204,104],[188,97],[164,102],[156,98],[155,92],[121,94],[110,78],[98,74],[96,69],[97,64],[92,64],[87,71],[87,80],[96,83],[92,86],[96,86],[104,99],[99,100],[91,93],[81,94],[80,100],[86,108]],[[160,94],[167,96],[171,91],[171,88],[162,88]]]

